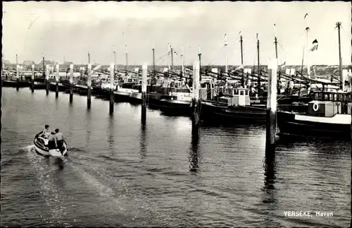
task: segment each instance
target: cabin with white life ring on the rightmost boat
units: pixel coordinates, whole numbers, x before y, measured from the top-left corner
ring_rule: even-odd
[[[351,114],[351,92],[315,91],[308,103],[309,116],[331,117],[335,114]]]

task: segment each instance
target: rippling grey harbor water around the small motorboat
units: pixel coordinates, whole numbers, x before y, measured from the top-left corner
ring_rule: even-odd
[[[268,168],[261,126],[201,126],[196,141],[188,117],[148,109],[142,126],[140,105],[108,105],[3,88],[1,227],[350,224],[350,142],[279,139]],[[63,164],[34,151],[44,124],[64,134]]]

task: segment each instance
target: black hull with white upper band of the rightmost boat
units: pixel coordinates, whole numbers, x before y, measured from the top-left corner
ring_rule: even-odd
[[[290,112],[277,112],[279,134],[306,138],[339,138],[351,140],[351,124],[348,124],[348,120],[344,124],[337,124],[331,121],[332,117],[319,117],[322,121],[313,121],[313,118],[307,121],[302,120],[304,116],[302,118],[300,116],[303,115]],[[351,122],[351,115],[347,114],[344,117],[348,119],[348,116],[349,122]],[[324,119],[326,119],[325,122]]]

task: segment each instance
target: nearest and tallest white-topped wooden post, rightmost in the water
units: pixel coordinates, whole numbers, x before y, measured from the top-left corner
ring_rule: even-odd
[[[266,146],[275,147],[276,134],[276,108],[277,108],[277,59],[268,66],[268,102],[267,102],[267,126]],[[269,150],[272,151],[272,150]]]

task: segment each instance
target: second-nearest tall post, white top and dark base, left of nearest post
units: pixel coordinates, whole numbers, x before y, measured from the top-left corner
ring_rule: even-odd
[[[199,61],[193,64],[193,94],[192,94],[192,135],[198,136],[199,134],[199,74],[200,67]]]

